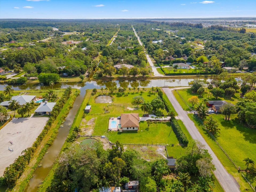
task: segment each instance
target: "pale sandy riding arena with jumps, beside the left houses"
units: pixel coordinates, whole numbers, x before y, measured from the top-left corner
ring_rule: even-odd
[[[48,119],[48,117],[17,118],[0,130],[0,176],[23,150],[32,146]],[[8,147],[13,151],[9,151]]]

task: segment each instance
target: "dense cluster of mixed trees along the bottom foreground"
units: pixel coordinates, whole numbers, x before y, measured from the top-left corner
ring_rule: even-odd
[[[136,150],[124,151],[116,142],[104,150],[101,142],[92,147],[73,145],[58,158],[54,178],[46,191],[98,191],[101,187],[123,186],[139,181],[139,191],[213,191],[211,156],[199,142],[177,159],[171,173],[166,159],[148,162]],[[86,170],[86,171],[85,171]],[[193,178],[193,179],[191,179]]]

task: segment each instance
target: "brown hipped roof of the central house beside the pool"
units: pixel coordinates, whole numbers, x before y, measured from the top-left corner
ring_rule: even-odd
[[[122,113],[121,127],[139,127],[138,113]]]

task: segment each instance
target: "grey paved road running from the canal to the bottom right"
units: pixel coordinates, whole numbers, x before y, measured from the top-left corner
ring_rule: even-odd
[[[178,88],[172,88],[172,89],[165,87],[163,88],[163,91],[165,92],[171,104],[173,105],[174,109],[178,113],[179,119],[183,121],[191,137],[203,143],[203,145],[205,145],[205,149],[207,149],[208,152],[211,154],[211,157],[213,158],[212,162],[216,168],[216,170],[214,171],[214,174],[218,179],[219,183],[221,184],[222,188],[226,192],[239,192],[240,191],[239,184],[237,183],[237,181],[235,181],[234,177],[227,172],[225,167],[223,167],[223,165],[221,164],[217,156],[214,154],[210,146],[206,143],[205,139],[202,137],[202,135],[199,133],[199,131],[195,127],[194,122],[191,121],[191,119],[187,116],[186,111],[182,109],[177,99],[174,97],[173,93],[171,92],[174,89],[184,89],[184,88],[186,87],[178,87]]]

